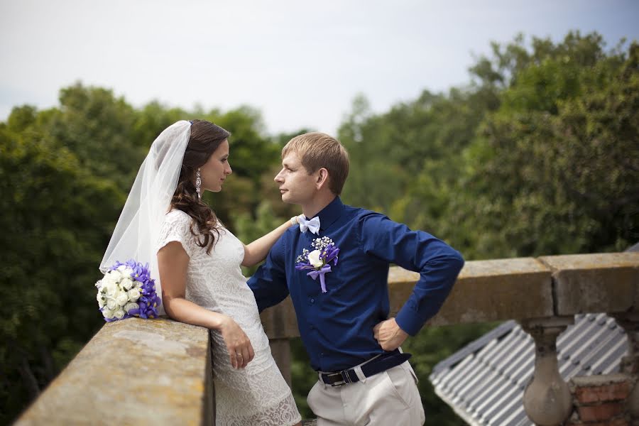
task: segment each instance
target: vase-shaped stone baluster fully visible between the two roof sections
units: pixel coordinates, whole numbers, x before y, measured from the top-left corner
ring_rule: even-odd
[[[572,413],[568,384],[559,375],[557,336],[574,324],[574,317],[522,320],[521,326],[535,339],[535,371],[524,392],[526,415],[540,426],[561,425]]]

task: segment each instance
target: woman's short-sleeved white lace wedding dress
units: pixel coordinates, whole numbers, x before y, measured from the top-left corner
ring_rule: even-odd
[[[186,299],[208,310],[229,315],[244,330],[255,358],[234,369],[222,335],[211,331],[217,425],[294,425],[301,416],[268,346],[253,292],[240,264],[244,246],[227,229],[220,229],[210,254],[195,242],[191,218],[180,210],[166,214],[158,250],[179,241],[190,257]]]

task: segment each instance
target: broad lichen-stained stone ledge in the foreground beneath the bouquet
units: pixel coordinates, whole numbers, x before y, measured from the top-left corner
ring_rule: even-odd
[[[206,329],[168,319],[105,324],[16,425],[200,425],[208,344]]]

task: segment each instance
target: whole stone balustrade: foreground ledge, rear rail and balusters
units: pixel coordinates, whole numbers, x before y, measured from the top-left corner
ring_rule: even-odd
[[[391,268],[391,315],[410,295],[419,274]],[[523,403],[540,425],[559,425],[572,405],[557,371],[555,340],[573,315],[607,312],[628,332],[624,371],[639,373],[639,253],[596,253],[469,261],[430,325],[518,320],[537,346],[535,374]],[[262,313],[271,349],[290,383],[289,339],[298,337],[290,300]],[[18,419],[67,425],[139,421],[212,424],[214,390],[205,329],[171,320],[106,324]],[[629,412],[639,413],[639,390]],[[152,420],[151,420],[152,419]]]

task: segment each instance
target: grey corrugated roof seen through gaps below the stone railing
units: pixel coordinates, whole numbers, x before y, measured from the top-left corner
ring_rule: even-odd
[[[626,332],[613,318],[575,315],[557,339],[559,373],[565,381],[614,373],[626,351]],[[535,342],[508,321],[437,364],[430,381],[469,425],[528,426],[523,392],[534,365]]]

